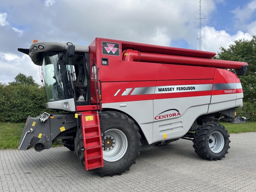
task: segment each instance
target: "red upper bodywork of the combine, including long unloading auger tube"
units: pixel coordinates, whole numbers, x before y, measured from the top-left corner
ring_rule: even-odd
[[[103,54],[103,42],[107,42],[108,46],[110,46],[105,48],[110,54],[111,48],[114,44],[119,46],[119,49],[115,48],[115,55]],[[240,81],[234,73],[219,68],[225,67],[238,69],[241,68],[242,65],[247,65],[247,63],[243,62],[212,60],[210,58],[215,55],[215,53],[212,52],[202,52],[102,38],[96,38],[95,41],[90,44],[89,48],[90,66],[92,67],[95,58],[98,67],[102,103],[224,94],[223,90],[214,90],[213,83],[228,84],[240,83]],[[125,52],[125,50],[131,48],[136,50],[131,50],[131,52],[137,52],[137,54],[140,54],[136,56],[137,59],[135,60],[137,61],[132,59],[130,53],[129,55]],[[101,63],[102,58],[108,58],[108,65],[103,65]],[[172,62],[168,62],[170,59],[172,59]],[[94,94],[95,90],[92,68],[90,71],[92,77],[91,101],[92,103],[95,103],[96,98]],[[159,86],[196,86],[204,84],[208,85],[208,88],[202,91],[177,91],[173,93],[163,92],[162,94],[156,94],[156,89]],[[210,90],[209,86],[211,87]],[[135,88],[145,88],[149,90],[149,92],[134,94],[134,92],[136,92]],[[175,89],[178,90],[177,87],[175,87]],[[242,92],[242,89],[236,89],[236,91]]]

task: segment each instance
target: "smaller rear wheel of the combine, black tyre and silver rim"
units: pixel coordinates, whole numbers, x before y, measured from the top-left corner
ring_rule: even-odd
[[[228,153],[229,134],[221,124],[208,122],[194,133],[193,147],[198,156],[209,160],[221,160]]]

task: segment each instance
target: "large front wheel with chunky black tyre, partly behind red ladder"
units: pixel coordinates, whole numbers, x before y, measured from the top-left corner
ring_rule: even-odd
[[[101,115],[105,132],[105,145],[109,145],[110,150],[108,148],[103,151],[104,166],[93,169],[92,172],[99,174],[101,177],[105,175],[113,176],[114,174],[121,175],[125,170],[129,171],[131,165],[135,164],[136,157],[140,155],[141,136],[139,128],[131,118],[122,113],[106,111],[102,112]],[[76,133],[75,151],[77,158],[84,165],[84,152],[81,153],[79,150],[78,138],[80,139],[81,148],[83,148],[81,128],[79,129],[79,134],[78,132]]]

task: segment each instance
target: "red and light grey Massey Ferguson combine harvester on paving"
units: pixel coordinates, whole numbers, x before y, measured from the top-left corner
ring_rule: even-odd
[[[18,50],[42,66],[47,108],[67,111],[29,116],[18,148],[62,143],[101,176],[129,170],[140,147],[180,138],[200,157],[220,160],[230,140],[214,120],[243,121],[235,115],[243,105],[236,75],[248,64],[213,60],[213,52],[103,38]]]

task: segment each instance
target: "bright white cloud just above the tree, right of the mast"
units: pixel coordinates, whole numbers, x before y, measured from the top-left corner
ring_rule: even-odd
[[[204,51],[218,52],[220,46],[228,48],[228,45],[234,44],[235,40],[251,40],[252,35],[238,31],[235,35],[230,35],[225,30],[216,30],[214,27],[204,27],[205,36],[202,39],[202,49]]]

